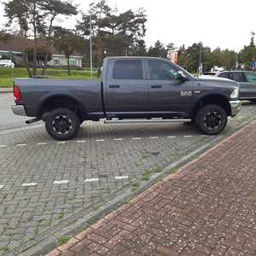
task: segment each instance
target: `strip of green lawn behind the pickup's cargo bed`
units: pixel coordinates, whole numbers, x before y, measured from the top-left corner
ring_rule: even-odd
[[[41,74],[41,69],[38,69],[38,75]],[[49,79],[89,79],[90,69],[84,68],[81,70],[72,70],[71,76],[67,75],[67,69],[46,69],[45,75]],[[93,73],[94,78],[96,78],[96,69]],[[18,78],[28,78],[26,68],[14,68],[14,79]],[[0,68],[0,87],[12,87],[13,78],[11,78],[11,71],[9,68]]]

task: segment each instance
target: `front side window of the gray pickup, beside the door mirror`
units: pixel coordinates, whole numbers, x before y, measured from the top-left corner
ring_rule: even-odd
[[[177,79],[177,69],[165,61],[148,61],[148,68],[152,80]]]

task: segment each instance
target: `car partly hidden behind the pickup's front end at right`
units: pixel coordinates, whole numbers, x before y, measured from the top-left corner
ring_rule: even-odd
[[[240,100],[256,102],[256,73],[249,71],[224,71],[218,78],[230,79],[240,85]]]

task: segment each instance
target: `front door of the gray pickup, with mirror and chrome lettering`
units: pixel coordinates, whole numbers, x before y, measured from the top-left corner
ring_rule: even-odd
[[[148,110],[162,115],[189,113],[193,82],[177,79],[178,69],[169,61],[148,60]]]

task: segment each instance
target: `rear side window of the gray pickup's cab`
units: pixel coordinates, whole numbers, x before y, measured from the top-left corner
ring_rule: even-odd
[[[143,79],[143,61],[120,60],[113,65],[113,79]]]

